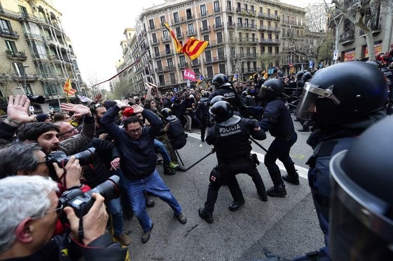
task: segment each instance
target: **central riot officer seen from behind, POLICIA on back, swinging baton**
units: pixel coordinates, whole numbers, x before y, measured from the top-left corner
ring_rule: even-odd
[[[259,128],[258,122],[233,115],[233,108],[228,102],[216,102],[209,113],[213,115],[215,124],[207,133],[206,143],[214,145],[218,165],[210,173],[205,207],[199,209],[199,216],[206,222],[212,223],[214,204],[223,182],[228,185],[233,197],[229,210],[235,211],[245,203],[235,177],[239,173],[246,173],[252,177],[262,201],[267,201],[268,198],[264,182],[256,169],[259,161],[255,154],[250,155],[252,148],[249,141],[250,135],[254,133],[259,136],[258,139],[265,139],[265,132]]]

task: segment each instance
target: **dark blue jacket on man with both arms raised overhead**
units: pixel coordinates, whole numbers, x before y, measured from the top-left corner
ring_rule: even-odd
[[[124,129],[120,129],[113,122],[119,111],[118,106],[107,110],[101,119],[101,125],[117,141],[122,156],[121,169],[124,176],[130,180],[146,178],[156,169],[154,137],[163,128],[162,122],[154,112],[144,109],[142,115],[150,123],[150,127],[143,127],[142,136],[139,139],[132,139]]]

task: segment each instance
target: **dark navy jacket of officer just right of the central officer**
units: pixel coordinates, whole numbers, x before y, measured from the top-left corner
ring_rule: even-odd
[[[289,104],[284,100],[270,101],[266,105],[262,121],[272,123],[269,131],[274,137],[285,137],[295,131]]]

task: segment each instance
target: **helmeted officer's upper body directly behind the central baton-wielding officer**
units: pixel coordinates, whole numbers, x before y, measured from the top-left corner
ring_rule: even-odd
[[[239,108],[245,107],[242,99],[239,98],[239,94],[235,89],[232,88],[229,83],[228,77],[224,74],[217,74],[211,81],[214,90],[210,93],[209,104],[215,96],[223,96],[226,101],[232,106],[234,111],[238,111]]]

